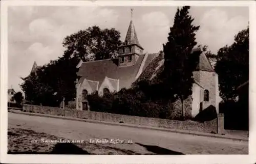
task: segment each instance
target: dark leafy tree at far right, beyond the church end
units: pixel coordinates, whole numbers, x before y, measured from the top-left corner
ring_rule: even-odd
[[[249,80],[249,27],[234,37],[232,45],[219,49],[215,69],[222,99],[236,98],[237,87]]]

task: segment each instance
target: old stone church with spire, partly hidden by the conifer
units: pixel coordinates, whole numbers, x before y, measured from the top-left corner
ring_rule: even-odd
[[[122,88],[130,88],[132,83],[143,74],[150,72],[150,78],[156,75],[157,70],[163,65],[163,55],[158,53],[144,53],[144,48],[139,43],[133,20],[124,39],[119,46],[119,55],[115,59],[93,62],[80,62],[77,65],[76,108],[88,110],[87,95],[98,91],[99,95],[118,92]],[[197,49],[194,49],[197,50]],[[200,110],[215,106],[219,113],[219,88],[218,74],[210,65],[206,55],[200,54],[199,65],[193,72],[195,84],[193,94],[187,100],[189,104],[188,115],[195,117]]]

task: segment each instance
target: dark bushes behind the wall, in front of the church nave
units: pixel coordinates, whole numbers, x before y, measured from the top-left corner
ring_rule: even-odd
[[[155,99],[139,88],[121,89],[117,93],[99,96],[98,92],[88,95],[90,110],[120,115],[179,119],[172,116],[172,103]]]

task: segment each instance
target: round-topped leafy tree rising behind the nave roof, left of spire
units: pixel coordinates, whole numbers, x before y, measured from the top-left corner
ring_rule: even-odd
[[[67,36],[62,44],[66,48],[65,58],[75,57],[86,62],[116,57],[121,41],[119,31],[93,26]]]

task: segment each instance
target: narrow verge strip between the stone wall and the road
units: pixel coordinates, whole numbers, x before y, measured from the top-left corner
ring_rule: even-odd
[[[175,132],[175,133],[190,134],[190,135],[200,135],[200,136],[207,136],[207,137],[211,137],[211,138],[221,138],[221,139],[229,139],[229,140],[234,140],[234,141],[248,142],[248,138],[241,137],[238,135],[236,135],[236,136],[230,135],[230,134],[220,135],[220,134],[197,132],[197,131],[167,129],[167,128],[159,128],[159,127],[151,127],[151,126],[125,124],[125,123],[113,123],[113,122],[106,122],[106,121],[87,120],[87,119],[79,119],[79,118],[73,118],[73,117],[48,115],[48,114],[28,113],[28,112],[22,112],[19,110],[9,110],[8,112],[15,113],[15,114],[29,115],[29,116],[39,116],[39,117],[48,117],[48,118],[65,119],[65,120],[73,120],[73,121],[82,121],[82,122],[89,122],[89,123],[99,123],[99,124],[105,124],[105,125],[128,126],[128,127],[134,127],[134,128],[160,130],[160,131],[167,131],[167,132]]]

